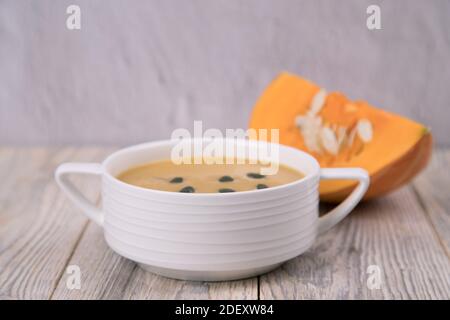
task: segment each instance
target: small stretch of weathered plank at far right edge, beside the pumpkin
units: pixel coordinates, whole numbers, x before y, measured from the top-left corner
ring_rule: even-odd
[[[450,150],[437,150],[414,189],[450,257]]]

